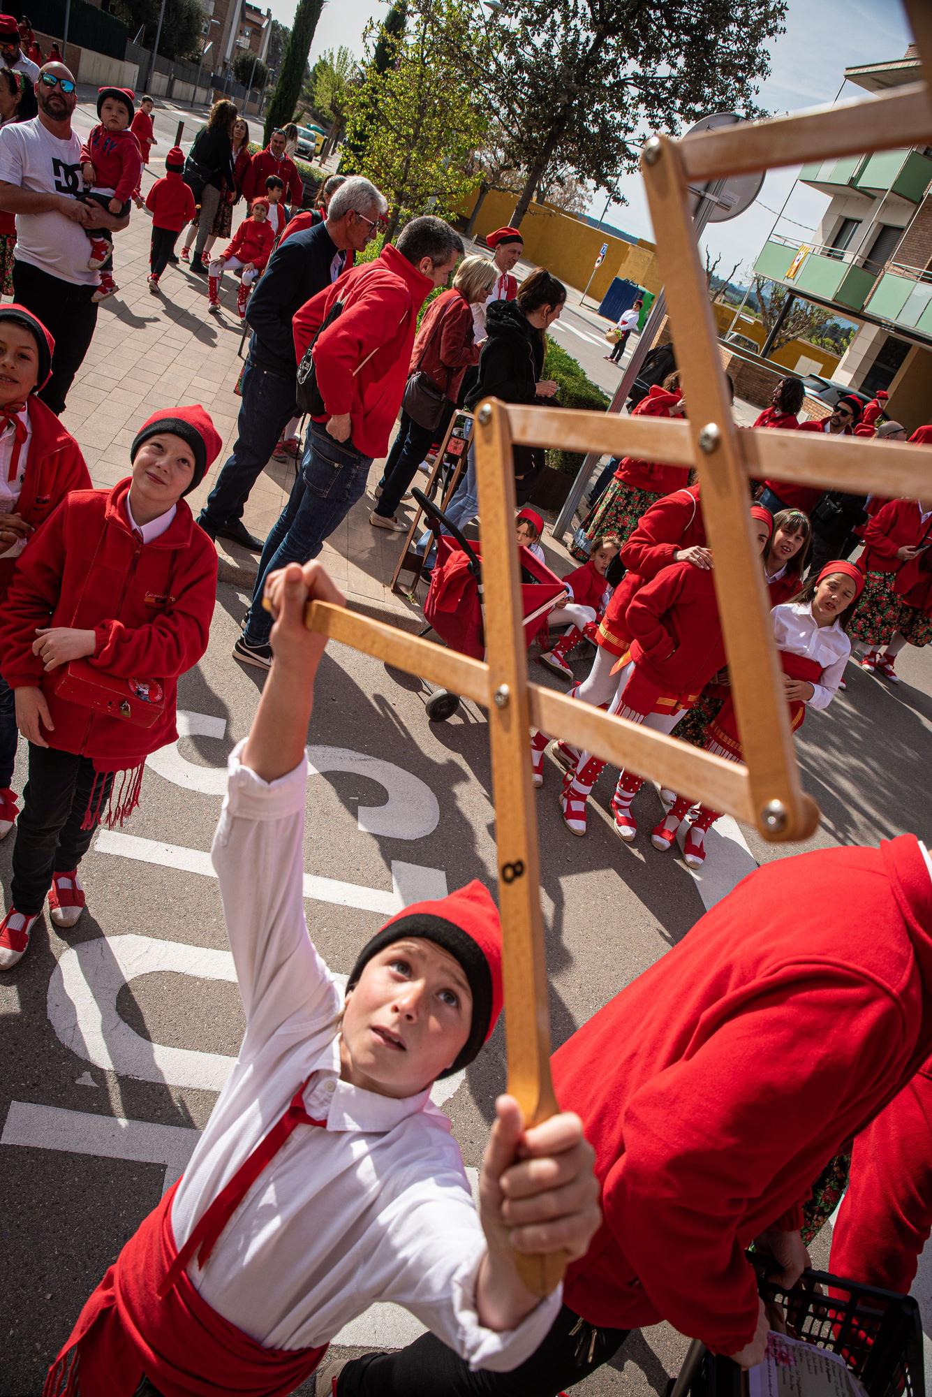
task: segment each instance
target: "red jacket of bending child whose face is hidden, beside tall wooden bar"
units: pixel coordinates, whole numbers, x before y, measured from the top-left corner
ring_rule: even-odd
[[[631,658],[661,693],[699,694],[726,662],[712,569],[664,567],[638,588],[625,622]]]

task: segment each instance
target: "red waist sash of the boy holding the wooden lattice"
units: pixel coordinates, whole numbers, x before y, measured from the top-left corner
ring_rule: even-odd
[[[142,1221],[85,1303],[49,1369],[43,1397],[133,1397],[145,1375],[163,1397],[286,1397],[322,1348],[264,1348],[212,1309],[181,1273],[158,1291],[177,1256],[172,1200]]]

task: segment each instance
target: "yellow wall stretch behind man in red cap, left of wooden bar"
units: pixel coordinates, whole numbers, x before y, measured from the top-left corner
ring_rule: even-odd
[[[463,212],[472,212],[476,200],[470,198]],[[484,237],[495,228],[502,228],[515,208],[515,196],[493,190],[483,200],[474,233]],[[601,233],[597,228],[580,222],[572,214],[564,214],[547,204],[532,204],[520,225],[525,239],[525,261],[546,267],[559,281],[582,291],[592,275],[596,257],[603,243],[608,243],[606,260],[593,277],[587,296],[601,300],[615,277],[643,286],[645,291],[660,291],[660,275],[653,243],[643,239],[626,243],[622,237]]]

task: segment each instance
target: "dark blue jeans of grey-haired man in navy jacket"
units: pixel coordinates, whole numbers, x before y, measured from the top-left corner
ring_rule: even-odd
[[[260,369],[250,355],[243,370],[243,407],[236,423],[239,436],[233,455],[223,465],[198,515],[198,524],[208,534],[243,518],[250,490],[294,414],[294,379]]]

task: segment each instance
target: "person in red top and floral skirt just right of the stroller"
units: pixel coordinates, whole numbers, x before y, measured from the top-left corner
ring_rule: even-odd
[[[663,388],[654,384],[647,397],[638,404],[635,418],[682,418],[686,404],[679,391],[679,374],[664,379]],[[569,552],[579,562],[589,557],[592,539],[600,534],[617,534],[621,542],[638,527],[640,515],[664,495],[671,495],[689,481],[689,467],[661,465],[652,461],[636,461],[624,457],[618,464],[614,481],[582,522],[582,539],[573,541]]]

